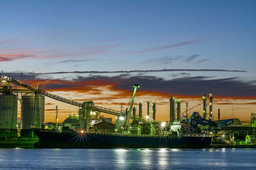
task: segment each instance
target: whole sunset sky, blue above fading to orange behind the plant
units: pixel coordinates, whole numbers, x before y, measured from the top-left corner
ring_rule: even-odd
[[[249,120],[256,110],[256,1],[0,1],[0,69],[32,86],[120,110],[156,102],[170,120],[214,96],[213,115]],[[45,98],[45,120],[77,113]],[[209,98],[207,99],[209,103]],[[151,109],[151,108],[150,108]],[[209,110],[209,108],[208,108]],[[208,111],[209,112],[209,111]],[[103,114],[104,117],[111,117]]]

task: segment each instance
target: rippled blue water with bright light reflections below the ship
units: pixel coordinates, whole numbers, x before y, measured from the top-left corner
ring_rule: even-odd
[[[0,169],[256,169],[256,149],[0,149]]]

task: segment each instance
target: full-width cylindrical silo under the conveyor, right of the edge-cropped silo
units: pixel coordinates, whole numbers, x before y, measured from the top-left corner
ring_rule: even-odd
[[[31,136],[31,127],[41,129],[44,124],[45,97],[40,94],[26,94],[21,97],[21,136]]]

